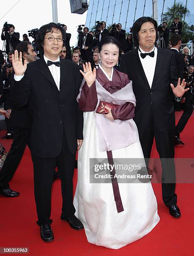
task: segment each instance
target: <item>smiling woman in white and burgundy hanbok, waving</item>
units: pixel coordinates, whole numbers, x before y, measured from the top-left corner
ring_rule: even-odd
[[[84,111],[84,140],[78,153],[78,180],[74,198],[75,215],[82,221],[87,240],[98,246],[118,249],[142,238],[159,222],[152,184],[90,183],[90,159],[141,158],[137,126],[133,121],[135,97],[132,81],[113,67],[119,58],[119,43],[106,37],[99,44],[101,64],[92,72],[85,64],[77,100]],[[106,106],[105,114],[99,102]],[[111,104],[110,104],[111,105]],[[110,106],[111,107],[111,106]],[[114,170],[115,171],[115,170]]]

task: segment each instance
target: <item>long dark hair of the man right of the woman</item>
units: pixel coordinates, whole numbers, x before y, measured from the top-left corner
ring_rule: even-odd
[[[138,32],[140,31],[142,25],[145,23],[145,22],[151,22],[153,25],[154,25],[154,28],[155,28],[155,31],[156,31],[156,41],[155,41],[155,45],[156,45],[156,42],[158,40],[158,31],[157,31],[157,21],[152,19],[151,17],[141,17],[139,19],[137,19],[135,21],[135,23],[133,24],[133,40],[134,40],[134,43],[135,43],[135,46],[139,47],[139,36],[138,36]]]

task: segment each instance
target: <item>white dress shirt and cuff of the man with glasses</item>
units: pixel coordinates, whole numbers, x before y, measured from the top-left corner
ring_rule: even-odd
[[[45,59],[46,64],[47,64],[47,60],[50,60],[45,55],[44,55],[44,59]],[[50,60],[50,61],[52,61],[52,60]],[[58,59],[55,61],[60,61],[60,58],[58,57]],[[52,62],[55,62],[55,61],[52,61]],[[55,81],[55,84],[57,85],[57,88],[59,90],[60,89],[60,67],[57,67],[55,65],[50,65],[48,68],[49,68],[49,70],[52,74],[52,77]],[[15,81],[20,81],[23,77],[24,77],[24,74],[22,76],[14,75]]]

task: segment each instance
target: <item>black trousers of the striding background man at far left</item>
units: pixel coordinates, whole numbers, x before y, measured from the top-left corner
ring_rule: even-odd
[[[30,131],[30,128],[14,128],[13,143],[0,172],[0,189],[10,188],[9,182],[20,164],[25,147],[29,142]]]

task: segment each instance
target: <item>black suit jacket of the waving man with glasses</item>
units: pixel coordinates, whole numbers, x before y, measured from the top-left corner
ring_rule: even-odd
[[[59,156],[64,130],[72,154],[77,151],[77,139],[83,139],[83,113],[76,101],[79,67],[66,59],[60,62],[60,91],[44,58],[29,63],[24,77],[14,82],[14,104],[29,104],[32,112],[31,152],[42,158]]]

